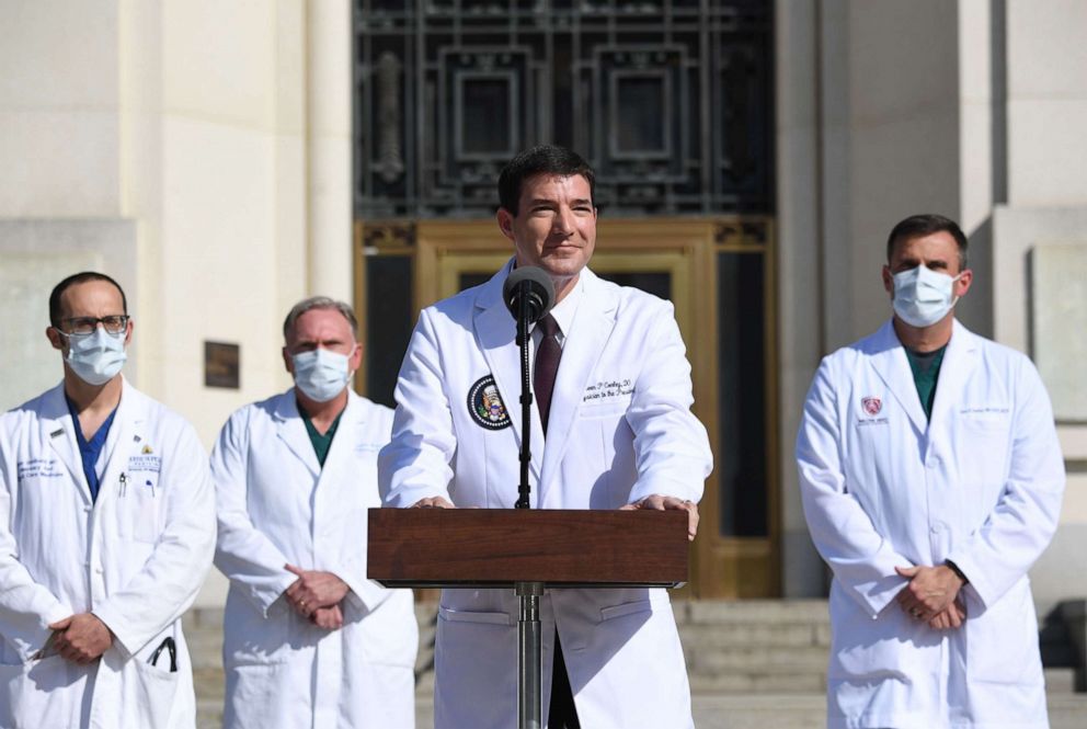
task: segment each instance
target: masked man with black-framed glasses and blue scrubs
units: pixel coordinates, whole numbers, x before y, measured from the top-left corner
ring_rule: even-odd
[[[115,281],[65,278],[49,321],[64,380],[0,415],[0,727],[191,728],[181,615],[215,544],[207,456],[121,375]]]

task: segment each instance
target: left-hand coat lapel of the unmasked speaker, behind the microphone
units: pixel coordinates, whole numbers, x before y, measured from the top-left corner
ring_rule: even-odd
[[[494,384],[502,396],[506,414],[510,415],[515,447],[520,448],[523,434],[520,422],[520,348],[517,346],[516,341],[517,324],[502,301],[502,285],[510,274],[510,267],[507,264],[480,291],[476,298],[472,326],[476,328],[479,349],[483,353],[491,376],[494,377]],[[471,383],[467,384],[470,385]],[[533,458],[529,463],[529,469],[536,477],[536,482],[539,483],[542,462],[540,452],[544,451],[544,425],[540,423],[539,410],[534,406],[531,411],[529,446]],[[534,489],[534,502],[538,503],[538,496]]]

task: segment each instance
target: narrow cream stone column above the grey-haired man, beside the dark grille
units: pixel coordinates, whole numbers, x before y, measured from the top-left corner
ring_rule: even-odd
[[[307,203],[309,294],[353,298],[348,0],[307,3]]]

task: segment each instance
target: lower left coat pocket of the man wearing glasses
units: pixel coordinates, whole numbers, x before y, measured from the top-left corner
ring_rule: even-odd
[[[69,688],[85,675],[73,676],[59,656],[18,665],[0,665],[0,727],[39,729],[78,722]]]

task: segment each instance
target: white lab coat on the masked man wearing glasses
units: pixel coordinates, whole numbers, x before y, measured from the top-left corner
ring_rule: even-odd
[[[92,502],[62,385],[0,417],[2,727],[195,725],[180,618],[215,544],[207,455],[188,423],[126,381],[104,457]],[[34,658],[48,624],[83,612],[114,634],[100,661]],[[168,636],[174,673],[167,651],[148,663]]]

